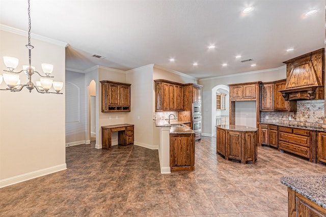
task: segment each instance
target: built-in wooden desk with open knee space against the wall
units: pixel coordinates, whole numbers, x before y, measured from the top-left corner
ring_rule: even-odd
[[[133,125],[128,123],[122,125],[102,126],[102,148],[111,149],[112,132],[118,132],[119,145],[133,144]]]

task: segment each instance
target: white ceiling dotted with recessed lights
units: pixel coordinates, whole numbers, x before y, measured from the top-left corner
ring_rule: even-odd
[[[247,6],[254,11],[243,14]],[[0,0],[0,23],[28,30],[27,8],[27,0]],[[305,16],[311,9],[318,11]],[[69,69],[156,64],[206,78],[281,67],[324,47],[325,1],[31,0],[31,20],[32,33],[70,45]]]

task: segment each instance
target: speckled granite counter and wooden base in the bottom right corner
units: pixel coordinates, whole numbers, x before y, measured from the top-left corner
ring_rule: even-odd
[[[288,216],[326,216],[326,175],[282,177],[288,189]]]

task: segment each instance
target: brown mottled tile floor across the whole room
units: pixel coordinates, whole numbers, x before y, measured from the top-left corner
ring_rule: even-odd
[[[253,164],[196,142],[195,172],[160,174],[157,150],[67,147],[65,171],[0,189],[0,216],[287,216],[281,176],[326,174],[326,165],[258,147]]]

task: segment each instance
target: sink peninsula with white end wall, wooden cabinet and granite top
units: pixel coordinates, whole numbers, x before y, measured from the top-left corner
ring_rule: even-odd
[[[156,120],[155,125],[160,128],[158,156],[161,173],[194,171],[195,132],[183,122],[170,125],[165,120]]]

